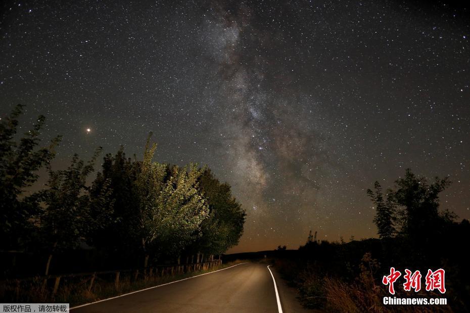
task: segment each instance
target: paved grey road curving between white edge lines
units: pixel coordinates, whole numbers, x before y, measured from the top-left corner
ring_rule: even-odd
[[[266,265],[241,264],[76,309],[92,312],[278,312]]]

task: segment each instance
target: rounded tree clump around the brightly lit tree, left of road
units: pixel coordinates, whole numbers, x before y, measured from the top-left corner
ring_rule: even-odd
[[[183,252],[220,254],[237,244],[245,212],[230,186],[196,164],[181,168],[154,162],[157,146],[150,138],[142,162],[126,159],[122,147],[115,156],[105,156],[91,194],[101,195],[107,186],[105,203],[112,202],[113,210],[97,211],[109,218],[95,230],[90,244],[154,260],[175,259]]]

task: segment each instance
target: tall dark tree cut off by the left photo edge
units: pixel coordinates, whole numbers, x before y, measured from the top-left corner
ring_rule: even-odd
[[[25,188],[36,182],[36,172],[54,158],[55,137],[48,147],[38,148],[44,116],[18,141],[15,139],[18,118],[24,106],[17,105],[10,116],[0,122],[0,236],[1,248],[24,248],[32,233],[33,217],[39,206],[35,196],[25,196]]]

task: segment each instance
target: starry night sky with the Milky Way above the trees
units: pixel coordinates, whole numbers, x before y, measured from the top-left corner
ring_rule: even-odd
[[[0,116],[97,146],[207,164],[247,211],[229,252],[377,237],[366,189],[449,176],[470,218],[470,19],[417,1],[8,1]],[[41,178],[43,181],[43,178]],[[40,182],[39,182],[40,183]]]

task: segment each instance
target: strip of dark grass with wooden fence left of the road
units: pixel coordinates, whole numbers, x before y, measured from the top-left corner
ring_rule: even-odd
[[[126,273],[119,278],[119,284],[114,284],[114,275],[97,276],[91,289],[90,277],[63,278],[56,294],[53,294],[53,286],[48,285],[43,288],[43,281],[40,278],[25,282],[10,282],[0,284],[0,299],[4,303],[70,303],[70,307],[91,303],[133,291],[138,291],[184,278],[214,272],[227,267],[249,262],[247,260],[234,260],[214,267],[209,270],[199,270],[181,274],[158,276],[147,275],[134,280],[133,273]],[[54,282],[52,282],[54,283]]]

